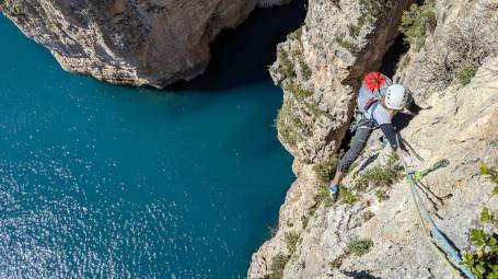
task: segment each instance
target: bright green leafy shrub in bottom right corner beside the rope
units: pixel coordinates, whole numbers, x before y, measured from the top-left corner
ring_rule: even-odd
[[[486,208],[480,213],[480,226],[470,232],[473,251],[463,256],[463,264],[477,279],[498,279],[498,235],[487,233],[485,223],[498,228],[496,216]]]

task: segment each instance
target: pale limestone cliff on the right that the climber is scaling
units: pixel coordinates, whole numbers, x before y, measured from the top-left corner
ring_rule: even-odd
[[[334,161],[351,116],[355,84],[364,71],[379,68],[385,49],[374,48],[379,53],[366,58],[361,54],[379,45],[373,42],[396,36],[396,21],[380,20],[358,32],[355,42],[363,43],[357,55],[344,49],[345,40],[352,42],[345,30],[357,34],[348,24],[366,2],[311,0],[302,34],[289,35],[279,46],[271,71],[285,90],[287,112],[278,131],[296,156],[298,178],[280,209],[275,236],[253,255],[248,278],[455,278],[425,241],[409,185],[391,148],[379,143],[379,131],[344,181],[357,200],[345,194],[332,204],[324,194],[326,179],[320,179],[316,166]],[[478,174],[483,163],[498,165],[498,1],[438,0],[427,7],[436,26],[418,38],[421,45],[412,44],[394,75],[425,109],[415,117],[397,116],[397,127],[413,148],[414,170],[449,160],[422,178],[419,191],[438,228],[464,253],[483,208],[498,212],[498,196],[491,193],[497,185]],[[343,34],[343,40],[334,40],[334,34]],[[392,171],[389,184],[369,178],[381,170]],[[355,254],[354,240],[369,240],[372,246]]]

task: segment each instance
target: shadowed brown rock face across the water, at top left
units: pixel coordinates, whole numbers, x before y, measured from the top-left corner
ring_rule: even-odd
[[[163,88],[201,73],[209,44],[256,7],[289,0],[3,0],[0,7],[65,70]]]

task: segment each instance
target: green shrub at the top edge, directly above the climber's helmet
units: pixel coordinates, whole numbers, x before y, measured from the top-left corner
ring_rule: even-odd
[[[405,42],[419,48],[436,24],[435,0],[430,0],[422,5],[412,4],[409,10],[403,13],[399,32],[405,35]]]

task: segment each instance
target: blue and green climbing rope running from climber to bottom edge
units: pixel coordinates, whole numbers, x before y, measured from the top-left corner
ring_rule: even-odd
[[[396,133],[396,143],[399,147],[399,135],[398,133]],[[401,151],[401,148],[398,148],[398,151]],[[406,163],[404,162],[401,153],[399,153],[399,160],[402,161],[403,168],[405,171],[405,176],[410,185],[412,194],[414,196],[415,205],[418,209],[420,220],[421,220],[421,216],[424,216],[427,223],[429,223],[432,235],[436,235],[437,240],[442,245],[443,251],[447,253],[447,255],[449,254],[452,257],[453,261],[456,264],[456,267],[460,269],[460,271],[463,272],[468,279],[475,279],[475,276],[462,264],[462,258],[460,257],[459,253],[453,248],[453,246],[451,246],[451,244],[448,242],[447,237],[444,237],[444,235],[441,233],[441,231],[439,231],[438,226],[436,225],[432,218],[430,217],[429,211],[427,210],[426,206],[424,205],[424,202],[420,198],[420,195],[417,190],[417,186],[415,184],[414,176],[412,173],[408,172],[408,167],[406,166]],[[420,214],[420,212],[421,212],[421,214]],[[424,226],[424,223],[421,225]],[[435,245],[432,242],[431,242],[431,244]],[[449,264],[448,258],[444,257],[444,259],[445,259],[447,264]],[[453,266],[451,266],[451,267],[454,268]]]

